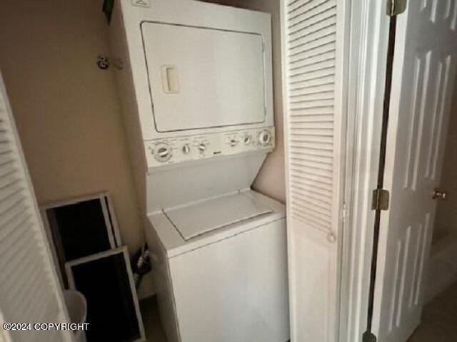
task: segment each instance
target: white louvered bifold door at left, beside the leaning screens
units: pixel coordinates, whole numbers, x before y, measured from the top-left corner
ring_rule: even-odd
[[[51,262],[0,74],[1,324],[66,321],[61,290]],[[14,342],[71,341],[69,331],[34,331],[33,325],[26,331],[2,330],[0,341],[1,338]]]

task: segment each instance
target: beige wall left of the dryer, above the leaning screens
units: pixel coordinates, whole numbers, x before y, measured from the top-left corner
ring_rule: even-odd
[[[108,190],[130,252],[143,241],[96,0],[1,1],[0,69],[40,203]]]

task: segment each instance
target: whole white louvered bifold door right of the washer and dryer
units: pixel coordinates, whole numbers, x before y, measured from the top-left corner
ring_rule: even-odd
[[[345,0],[281,1],[292,341],[336,341]]]

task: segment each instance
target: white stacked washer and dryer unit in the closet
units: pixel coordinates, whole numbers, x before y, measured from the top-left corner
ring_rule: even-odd
[[[121,0],[110,41],[169,342],[287,341],[285,209],[251,190],[275,147],[271,16]]]

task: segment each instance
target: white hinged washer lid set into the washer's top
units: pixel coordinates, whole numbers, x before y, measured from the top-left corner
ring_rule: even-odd
[[[182,207],[164,209],[170,222],[186,241],[214,229],[271,212],[271,207],[238,192]]]

